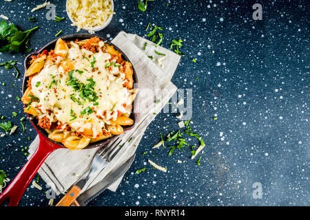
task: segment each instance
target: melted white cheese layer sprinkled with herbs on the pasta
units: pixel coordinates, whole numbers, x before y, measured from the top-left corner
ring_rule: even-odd
[[[49,115],[48,112],[52,111],[49,116],[51,122],[58,120],[79,132],[92,129],[93,137],[96,137],[105,124],[116,120],[118,112],[130,113],[124,106],[132,104],[132,92],[123,87],[125,74],[119,71],[119,64],[110,54],[101,50],[92,53],[79,49],[72,41],[70,43],[72,46],[62,61],[57,59],[54,64],[45,65],[32,78],[32,92],[39,98],[38,107],[43,114]],[[102,41],[100,43],[103,45]],[[64,71],[68,62],[74,65],[72,76]],[[84,85],[93,80],[94,86],[90,90],[96,94],[97,99],[92,101],[81,98],[81,92],[68,85],[72,78]],[[85,109],[91,110],[85,113]]]

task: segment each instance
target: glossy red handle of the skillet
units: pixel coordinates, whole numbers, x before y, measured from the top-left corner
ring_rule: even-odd
[[[23,192],[25,192],[25,189],[30,184],[30,181],[37,173],[37,170],[39,170],[46,157],[56,148],[59,148],[59,146],[50,142],[46,137],[41,135],[41,133],[39,133],[39,138],[40,144],[37,151],[34,152],[25,166],[21,168],[17,177],[13,179],[8,188],[0,195],[0,206],[6,199],[10,199],[9,206],[17,206],[19,200],[23,196]]]

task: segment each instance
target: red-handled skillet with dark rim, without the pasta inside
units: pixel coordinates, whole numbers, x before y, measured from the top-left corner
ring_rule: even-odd
[[[76,39],[83,40],[83,39],[90,39],[92,37],[94,37],[94,35],[90,35],[90,34],[72,34],[72,35],[68,35],[68,36],[63,36],[63,37],[61,37],[61,39],[63,39],[64,41],[74,41]],[[120,52],[122,54],[123,60],[130,62],[129,58],[127,58],[127,56],[118,47],[116,47],[116,45],[114,45],[110,41],[107,41],[107,40],[101,38],[100,36],[98,36],[98,37],[103,42],[105,42],[105,43],[107,43],[109,45],[113,45],[114,48],[116,50],[118,50],[118,52]],[[32,54],[29,54],[25,58],[25,62],[24,62],[25,72],[28,69],[28,67],[30,66],[30,64],[29,64],[30,63],[30,59],[31,59],[30,56],[35,55],[35,54],[40,54],[41,52],[43,52],[43,50],[48,50],[48,51],[54,50],[54,47],[56,45],[56,41],[57,41],[57,39],[55,39],[54,41],[48,43],[47,45],[42,47],[39,51],[34,52]],[[136,87],[136,85],[138,85],[138,78],[136,76],[136,71],[134,70],[133,66],[132,66],[132,69],[134,71],[133,78],[134,78],[134,85]],[[24,76],[23,76],[23,93],[25,92],[25,89],[27,89],[27,87],[26,87],[27,80],[28,80],[28,77],[26,77],[25,74],[24,74]],[[137,100],[137,98],[138,97],[136,97],[135,100]],[[134,102],[134,105],[133,105],[133,108],[132,108],[132,114],[130,115],[130,118],[132,118],[132,120],[134,120],[134,124],[136,122],[135,109],[136,109],[136,101]],[[13,181],[8,186],[8,188],[6,188],[6,190],[4,190],[4,192],[0,195],[0,205],[3,203],[3,201],[6,201],[6,199],[10,199],[10,202],[9,202],[8,205],[9,206],[17,206],[18,203],[19,203],[19,200],[21,199],[21,197],[23,195],[23,192],[25,192],[25,189],[30,184],[30,181],[32,180],[34,175],[37,173],[37,170],[39,170],[41,164],[43,164],[43,162],[46,159],[46,157],[48,157],[48,155],[50,155],[50,153],[52,153],[52,151],[54,151],[54,150],[56,150],[58,148],[65,148],[65,146],[63,146],[63,144],[61,144],[59,142],[54,142],[53,140],[50,140],[48,138],[48,133],[44,129],[41,129],[40,126],[37,125],[38,122],[37,122],[37,120],[35,118],[31,119],[30,115],[28,115],[28,118],[29,118],[32,126],[34,126],[34,129],[37,130],[37,133],[39,135],[40,143],[39,143],[39,146],[38,146],[37,150],[32,155],[32,157],[30,157],[30,159],[25,164],[25,166],[23,166],[23,168],[21,168],[21,170],[19,171],[19,174],[17,175],[17,177],[15,177],[13,179]],[[123,127],[124,131],[132,129],[134,124],[132,124],[131,126],[124,126]],[[85,147],[85,149],[101,147],[101,146],[107,144],[107,142],[112,141],[116,136],[117,135],[115,135],[113,137],[109,137],[109,138],[107,138],[105,140],[101,140],[99,142],[90,143],[87,147]]]

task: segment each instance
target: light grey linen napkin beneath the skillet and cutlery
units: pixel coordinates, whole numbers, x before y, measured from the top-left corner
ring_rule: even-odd
[[[177,89],[170,80],[178,66],[180,56],[163,47],[155,47],[152,41],[143,39],[136,34],[119,32],[112,43],[127,55],[138,76],[139,96],[138,100],[135,100],[135,102],[138,102],[136,126],[119,136],[123,144],[121,150],[109,165],[101,170],[94,179],[87,182],[82,192],[101,181],[107,173],[115,170],[134,155],[145,129],[154,120],[156,114],[169,102]],[[145,43],[147,43],[147,47],[143,50]],[[165,56],[155,54],[154,50],[165,54]],[[151,59],[148,56],[153,56],[153,58]],[[154,100],[160,100],[160,102],[155,103]],[[109,144],[113,144],[113,142]],[[38,145],[39,137],[37,136],[30,144],[29,157],[31,157]],[[45,159],[38,173],[46,184],[56,192],[56,195],[59,195],[61,192],[67,191],[90,168],[92,157],[96,151],[98,151],[98,148],[79,151],[71,151],[67,148],[57,149]],[[121,178],[108,189],[115,191],[120,182]]]

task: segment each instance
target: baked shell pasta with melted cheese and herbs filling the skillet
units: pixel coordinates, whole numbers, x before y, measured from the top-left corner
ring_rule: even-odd
[[[58,39],[54,50],[31,56],[25,75],[25,112],[67,148],[85,148],[134,123],[132,64],[98,37]]]

